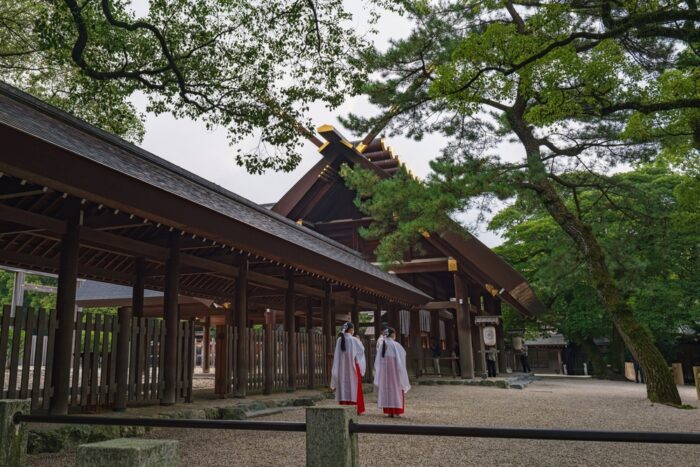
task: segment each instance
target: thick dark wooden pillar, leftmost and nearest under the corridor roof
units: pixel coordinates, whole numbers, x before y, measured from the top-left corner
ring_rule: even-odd
[[[58,266],[56,290],[56,341],[53,351],[53,395],[49,403],[52,415],[68,413],[70,392],[71,351],[75,328],[75,288],[78,280],[78,249],[80,246],[80,224],[82,213],[80,202],[70,199],[66,219],[66,233],[61,238],[61,253]],[[2,349],[4,352],[5,349]]]

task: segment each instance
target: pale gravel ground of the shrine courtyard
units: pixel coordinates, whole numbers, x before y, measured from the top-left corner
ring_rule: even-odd
[[[698,406],[695,389],[681,388]],[[699,431],[700,411],[650,404],[642,385],[551,380],[523,390],[415,386],[402,419],[388,419],[367,396],[366,423],[489,427]],[[324,402],[332,404],[332,401]],[[292,410],[266,420],[304,419]],[[302,433],[159,429],[150,438],[180,441],[182,465],[304,465]],[[30,456],[29,465],[72,465],[74,454]],[[405,465],[700,465],[700,446],[360,435],[360,464]]]

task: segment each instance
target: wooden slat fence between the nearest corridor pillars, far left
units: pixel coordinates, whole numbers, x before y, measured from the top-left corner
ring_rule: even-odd
[[[31,398],[32,410],[47,409],[52,394],[56,313],[5,306],[0,316],[0,399]],[[109,407],[117,390],[116,316],[77,312],[71,353],[69,405],[84,410]],[[130,326],[127,397],[158,400],[163,388],[160,319],[133,318]],[[192,397],[193,323],[178,328],[177,395]]]

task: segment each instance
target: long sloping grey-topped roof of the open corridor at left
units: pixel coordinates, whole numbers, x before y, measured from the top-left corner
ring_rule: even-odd
[[[143,206],[150,200],[134,203],[129,199],[133,198],[133,193],[125,193],[119,202],[130,202],[129,207],[137,213],[143,210],[144,217],[153,214],[150,219],[164,219],[161,222],[165,225],[183,230],[200,229],[202,236],[223,244],[397,301],[420,304],[430,299],[421,290],[364,261],[354,250],[4,83],[0,83],[0,130],[6,138],[12,136],[16,141],[48,144],[46,147],[56,150],[62,157],[65,154],[76,166],[89,168],[90,174],[102,171],[100,173],[126,176],[129,183],[151,192],[155,189],[170,202],[169,206],[162,207],[153,201],[148,208],[151,211],[146,212]],[[117,202],[120,187],[96,187],[94,180],[81,178],[76,169],[68,166],[62,166],[60,173],[49,173],[40,162],[42,157],[50,156],[22,156],[31,158],[22,161],[16,149],[0,153],[0,166],[6,173],[24,176],[31,168],[36,172],[30,175],[38,174],[41,182],[51,188],[91,201],[95,200],[90,196],[94,194],[97,199],[99,194],[99,199]],[[94,191],[88,191],[88,186]],[[189,209],[191,203],[195,204],[193,209],[198,216],[206,217],[207,225],[215,227],[205,230],[191,218],[183,218],[178,209],[185,205]],[[153,211],[155,209],[157,212]],[[234,226],[236,232],[232,233]]]

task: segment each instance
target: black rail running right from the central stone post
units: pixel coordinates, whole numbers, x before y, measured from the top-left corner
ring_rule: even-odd
[[[541,428],[481,428],[438,425],[380,425],[350,422],[351,433],[384,435],[461,436],[469,438],[604,441],[623,443],[700,444],[700,433],[644,431],[551,430]]]

